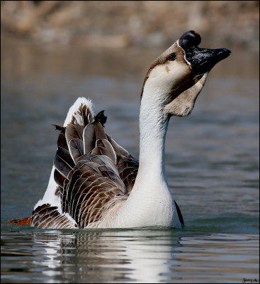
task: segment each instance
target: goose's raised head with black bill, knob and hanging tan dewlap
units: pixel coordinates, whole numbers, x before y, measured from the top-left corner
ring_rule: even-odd
[[[200,41],[196,31],[183,33],[154,60],[142,87],[141,105],[152,102],[166,117],[191,113],[208,72],[231,53],[226,48],[198,48]]]

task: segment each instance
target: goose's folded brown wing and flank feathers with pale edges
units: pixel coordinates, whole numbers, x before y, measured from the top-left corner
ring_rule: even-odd
[[[81,103],[60,131],[54,158],[60,209],[43,204],[33,212],[33,226],[95,227],[115,204],[128,198],[138,161],[106,135],[103,111],[95,117]],[[69,216],[69,217],[68,217]]]

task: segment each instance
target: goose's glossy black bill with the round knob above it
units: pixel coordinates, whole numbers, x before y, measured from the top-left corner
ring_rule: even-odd
[[[186,60],[196,75],[210,71],[217,62],[227,58],[231,51],[227,48],[198,48],[201,38],[196,31],[188,31],[181,35],[179,45],[185,51]]]

